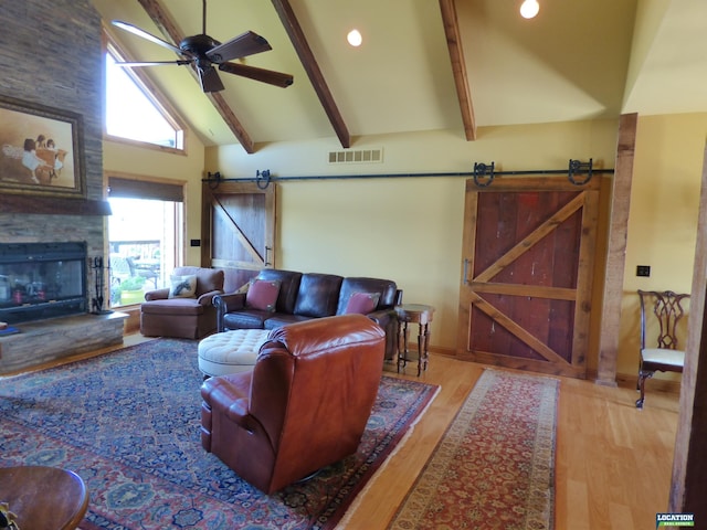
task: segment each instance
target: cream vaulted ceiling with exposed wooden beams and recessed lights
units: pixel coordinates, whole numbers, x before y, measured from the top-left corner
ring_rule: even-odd
[[[168,42],[201,33],[199,0],[92,0],[134,60],[176,55],[109,24]],[[207,33],[247,30],[273,50],[247,65],[294,75],[287,88],[220,73],[202,93],[189,66],[143,68],[208,145],[260,145],[446,129],[707,112],[704,0],[208,0]],[[346,34],[363,35],[351,47]],[[635,31],[634,31],[635,29]]]

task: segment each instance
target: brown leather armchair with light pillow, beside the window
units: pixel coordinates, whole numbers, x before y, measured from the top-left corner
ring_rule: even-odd
[[[193,296],[170,298],[169,288],[150,290],[140,305],[140,332],[146,337],[200,339],[217,330],[213,297],[223,294],[223,271],[177,267],[172,276],[196,275]]]

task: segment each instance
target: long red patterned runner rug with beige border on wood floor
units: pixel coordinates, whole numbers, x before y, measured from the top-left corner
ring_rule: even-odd
[[[558,391],[485,370],[389,529],[551,529]]]

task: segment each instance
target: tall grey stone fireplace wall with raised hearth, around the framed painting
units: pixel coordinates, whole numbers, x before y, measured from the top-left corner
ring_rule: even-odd
[[[70,268],[72,282],[80,287],[48,292],[52,280],[32,279],[42,274],[54,276],[59,268],[49,265],[14,273],[4,265],[0,275],[0,301],[4,317],[18,320],[17,335],[0,337],[0,374],[62,357],[95,350],[123,341],[125,315],[94,315],[91,298],[95,296],[88,262],[107,256],[105,236],[106,215],[110,210],[105,201],[103,178],[103,95],[102,95],[102,22],[89,0],[25,0],[4,2],[0,9],[3,29],[0,68],[0,95],[22,99],[29,104],[71,112],[81,116],[81,152],[85,168],[83,197],[64,198],[39,193],[0,192],[0,243],[36,246],[68,244],[83,246],[85,256]],[[38,61],[48,50],[61,50],[61,61]],[[45,247],[46,248],[46,247]],[[65,263],[62,261],[62,263]],[[57,266],[56,266],[57,267]],[[81,271],[81,272],[80,272]],[[65,273],[63,271],[61,275]],[[10,279],[12,276],[14,279]],[[30,280],[31,279],[31,280]],[[10,284],[11,299],[1,283]],[[17,289],[15,289],[17,284]],[[43,285],[40,285],[43,284]],[[40,293],[44,287],[44,295]],[[15,295],[14,292],[19,290]],[[71,296],[64,298],[64,295]],[[77,296],[74,296],[74,295]],[[21,300],[15,303],[15,298]],[[49,299],[61,303],[71,316],[56,316]],[[35,306],[35,307],[32,307]],[[24,311],[40,311],[41,318],[23,320]],[[51,318],[46,318],[51,317]]]

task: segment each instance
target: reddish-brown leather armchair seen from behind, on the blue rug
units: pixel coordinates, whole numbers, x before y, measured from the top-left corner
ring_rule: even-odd
[[[201,444],[272,494],[356,453],[382,373],[384,335],[362,315],[271,331],[252,371],[201,388]]]

